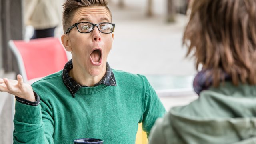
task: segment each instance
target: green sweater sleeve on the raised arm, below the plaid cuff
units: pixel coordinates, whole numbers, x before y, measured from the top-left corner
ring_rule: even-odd
[[[53,126],[50,108],[42,100],[38,106],[16,102],[14,144],[53,144]]]

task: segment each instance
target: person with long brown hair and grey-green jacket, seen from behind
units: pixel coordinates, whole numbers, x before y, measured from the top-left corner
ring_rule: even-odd
[[[256,0],[195,0],[183,43],[199,95],[156,121],[150,144],[255,144]]]

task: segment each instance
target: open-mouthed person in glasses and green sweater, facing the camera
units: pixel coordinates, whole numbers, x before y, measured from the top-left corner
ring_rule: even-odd
[[[17,100],[14,144],[134,144],[138,123],[149,134],[164,106],[145,76],[110,68],[115,24],[107,0],[66,0],[63,8],[61,40],[72,60],[32,86],[20,75],[0,79],[0,91]]]

